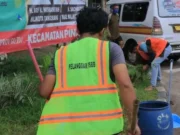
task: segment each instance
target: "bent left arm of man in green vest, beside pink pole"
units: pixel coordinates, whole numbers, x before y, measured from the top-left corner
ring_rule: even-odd
[[[49,99],[54,89],[55,81],[56,73],[54,68],[54,59],[52,59],[47,75],[45,76],[43,82],[40,84],[39,93],[42,97]]]

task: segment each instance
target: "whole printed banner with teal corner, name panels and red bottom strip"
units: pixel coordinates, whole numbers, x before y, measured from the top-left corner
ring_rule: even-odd
[[[84,0],[0,0],[0,53],[64,43],[77,36]]]

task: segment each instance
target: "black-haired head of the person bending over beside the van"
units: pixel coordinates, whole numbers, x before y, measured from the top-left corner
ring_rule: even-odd
[[[125,47],[123,49],[125,59],[130,64],[136,64],[137,61],[137,54],[133,52],[134,48],[137,46],[135,41],[126,42]]]

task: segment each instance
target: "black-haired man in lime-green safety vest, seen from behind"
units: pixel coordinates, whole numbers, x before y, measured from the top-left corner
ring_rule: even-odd
[[[120,100],[131,121],[136,99],[122,49],[101,40],[108,25],[102,9],[83,8],[76,21],[80,39],[56,51],[40,86],[48,102],[37,135],[119,135],[124,128]],[[138,125],[129,135],[140,135]]]

